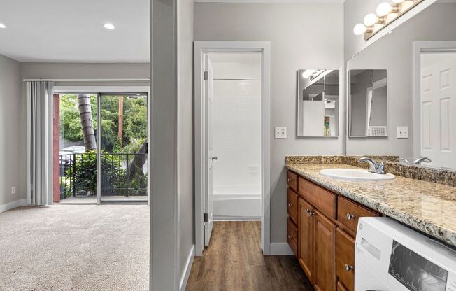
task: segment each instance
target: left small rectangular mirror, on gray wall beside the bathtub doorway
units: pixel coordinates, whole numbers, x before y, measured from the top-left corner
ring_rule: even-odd
[[[339,70],[299,70],[297,95],[297,136],[338,136]]]

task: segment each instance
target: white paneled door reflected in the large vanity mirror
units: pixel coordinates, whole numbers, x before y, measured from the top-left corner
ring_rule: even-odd
[[[453,57],[450,57],[453,55]],[[456,57],[421,69],[421,156],[456,165]]]

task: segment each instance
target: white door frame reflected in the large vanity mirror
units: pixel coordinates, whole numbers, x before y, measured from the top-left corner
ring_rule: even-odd
[[[421,156],[421,53],[456,52],[456,41],[413,42],[413,157]],[[418,129],[418,130],[417,130]]]

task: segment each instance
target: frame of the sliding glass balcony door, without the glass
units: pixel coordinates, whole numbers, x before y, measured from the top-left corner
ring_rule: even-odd
[[[97,95],[97,116],[101,116],[101,94],[121,94],[121,93],[147,93],[148,94],[148,104],[150,103],[150,87],[149,86],[54,86],[53,94],[96,94]],[[148,106],[148,128],[147,132],[150,133],[150,122],[151,115]],[[101,120],[98,118],[97,123],[98,127]],[[100,127],[99,127],[100,128]],[[101,152],[101,130],[97,131],[97,150]],[[150,144],[150,136],[148,136],[148,143]],[[150,148],[150,147],[149,147]],[[148,161],[150,161],[150,150],[148,151]],[[151,164],[148,162],[148,173],[152,173]],[[147,190],[147,200],[148,205],[150,205],[150,179],[148,179],[148,190]],[[97,205],[101,204],[101,155],[97,156]]]

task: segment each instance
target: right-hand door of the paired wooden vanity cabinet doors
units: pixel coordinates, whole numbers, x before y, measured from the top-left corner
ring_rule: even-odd
[[[336,290],[336,225],[315,211],[313,218],[313,284],[318,291]]]

